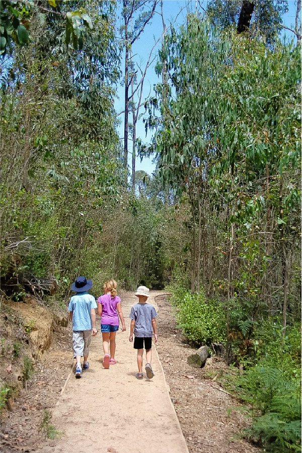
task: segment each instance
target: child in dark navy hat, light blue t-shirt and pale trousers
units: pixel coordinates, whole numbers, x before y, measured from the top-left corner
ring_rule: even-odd
[[[92,287],[92,280],[86,277],[78,277],[71,285],[71,290],[77,294],[69,301],[68,311],[72,321],[72,347],[73,358],[77,360],[75,365],[75,377],[82,377],[81,357],[84,356],[83,370],[88,370],[89,346],[91,335],[95,336],[97,303],[95,298],[88,293]]]

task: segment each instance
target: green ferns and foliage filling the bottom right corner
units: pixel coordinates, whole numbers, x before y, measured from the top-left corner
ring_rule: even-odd
[[[301,451],[301,337],[299,325],[280,320],[257,323],[254,364],[220,380],[246,403],[252,426],[244,431],[268,451]]]

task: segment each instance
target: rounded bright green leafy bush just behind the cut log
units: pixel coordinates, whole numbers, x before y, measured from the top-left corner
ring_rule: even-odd
[[[224,310],[218,301],[207,300],[203,291],[191,295],[183,288],[170,290],[178,325],[190,342],[196,346],[225,342]]]

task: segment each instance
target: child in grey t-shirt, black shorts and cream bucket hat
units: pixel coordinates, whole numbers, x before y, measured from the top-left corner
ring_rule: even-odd
[[[156,309],[151,305],[147,304],[146,300],[149,297],[149,289],[145,286],[139,286],[136,290],[135,296],[138,297],[138,304],[133,305],[130,311],[129,318],[131,319],[130,324],[130,335],[129,341],[133,341],[133,330],[134,330],[134,345],[133,348],[137,349],[137,366],[138,373],[136,374],[137,379],[143,378],[142,373],[142,356],[143,346],[146,350],[146,374],[147,378],[151,379],[154,376],[154,372],[151,366],[152,360],[152,330],[154,331],[154,341],[157,343],[157,328],[156,328]]]

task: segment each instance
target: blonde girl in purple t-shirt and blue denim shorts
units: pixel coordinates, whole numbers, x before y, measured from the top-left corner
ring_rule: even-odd
[[[107,280],[104,284],[104,295],[98,298],[98,315],[101,316],[101,331],[103,336],[104,359],[103,367],[115,365],[115,335],[119,328],[119,318],[122,331],[126,330],[121,300],[116,295],[116,281]],[[110,346],[109,346],[110,344]],[[110,353],[109,353],[110,351]]]

